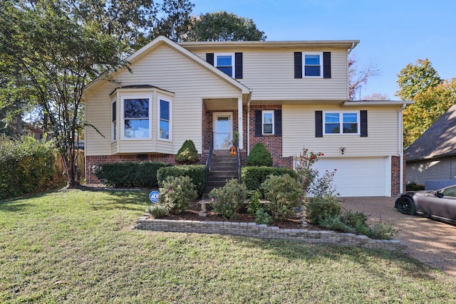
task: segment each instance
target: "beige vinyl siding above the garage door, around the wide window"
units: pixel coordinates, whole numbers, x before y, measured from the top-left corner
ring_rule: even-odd
[[[315,137],[315,111],[368,110],[368,137],[323,135]],[[398,112],[391,108],[341,108],[336,106],[282,106],[284,157],[299,155],[302,149],[323,152],[325,157],[384,157],[398,155]],[[345,147],[341,154],[341,147]]]

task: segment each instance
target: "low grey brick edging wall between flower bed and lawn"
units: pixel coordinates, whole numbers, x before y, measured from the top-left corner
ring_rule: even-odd
[[[136,221],[135,229],[196,234],[229,234],[258,239],[286,239],[301,243],[326,243],[407,253],[407,245],[398,240],[374,240],[367,236],[342,234],[336,231],[280,229],[276,226],[256,223],[149,219],[149,215],[144,214]]]

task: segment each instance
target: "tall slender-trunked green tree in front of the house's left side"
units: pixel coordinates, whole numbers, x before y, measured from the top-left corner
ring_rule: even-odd
[[[88,125],[82,119],[83,88],[106,70],[126,65],[119,56],[122,45],[69,18],[55,1],[1,1],[0,7],[0,75],[9,75],[9,83],[0,85],[0,109],[11,100],[42,108],[67,185],[78,187],[76,138]]]

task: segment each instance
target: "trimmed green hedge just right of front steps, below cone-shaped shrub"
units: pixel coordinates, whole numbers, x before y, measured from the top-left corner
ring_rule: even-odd
[[[241,180],[242,184],[249,190],[257,190],[261,188],[261,184],[266,181],[269,175],[284,175],[289,174],[290,177],[297,179],[296,172],[288,168],[274,167],[242,167]]]

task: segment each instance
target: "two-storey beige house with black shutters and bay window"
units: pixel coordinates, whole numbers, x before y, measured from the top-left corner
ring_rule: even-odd
[[[337,169],[341,196],[391,196],[403,187],[402,101],[348,101],[348,54],[359,41],[175,43],[160,36],[127,69],[84,91],[86,180],[94,164],[174,162],[192,140],[201,162],[213,140],[239,132],[244,163],[263,142],[274,166],[293,167],[303,148]],[[402,168],[402,169],[401,169]]]

